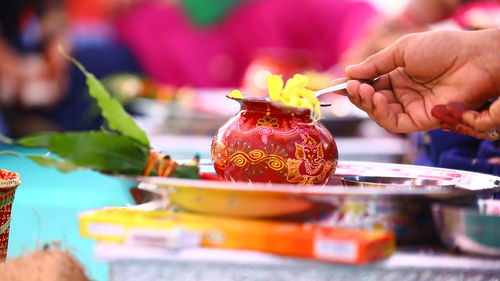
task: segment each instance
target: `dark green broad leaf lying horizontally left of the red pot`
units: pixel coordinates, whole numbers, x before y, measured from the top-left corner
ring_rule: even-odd
[[[114,132],[46,133],[21,138],[16,144],[46,147],[75,165],[108,173],[140,175],[149,157],[148,146]]]

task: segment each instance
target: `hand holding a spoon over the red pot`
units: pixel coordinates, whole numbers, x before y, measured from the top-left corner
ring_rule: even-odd
[[[500,93],[500,30],[433,31],[402,37],[360,64],[350,79],[381,79],[370,86],[348,81],[349,99],[386,130],[435,129],[431,110],[460,103],[478,108]]]

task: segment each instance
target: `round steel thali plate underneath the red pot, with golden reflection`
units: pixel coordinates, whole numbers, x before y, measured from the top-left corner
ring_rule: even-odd
[[[209,161],[200,168],[213,171]],[[436,185],[342,185],[347,176],[411,178]],[[422,179],[424,179],[422,181]],[[500,192],[500,178],[443,168],[340,161],[326,186],[189,180],[139,177],[161,191],[167,208],[242,218],[285,219],[322,225],[391,229],[398,241],[427,240],[435,236],[430,204],[436,201],[477,200]],[[428,231],[427,231],[428,230]],[[429,233],[423,233],[429,232]]]

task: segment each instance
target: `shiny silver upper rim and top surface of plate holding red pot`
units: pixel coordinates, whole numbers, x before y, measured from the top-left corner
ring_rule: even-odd
[[[205,172],[213,171],[212,164],[208,160],[202,161],[200,168]],[[411,185],[407,185],[407,188],[402,188],[404,185],[387,185],[385,188],[346,187],[341,182],[341,178],[346,176],[405,177],[419,180],[434,180],[446,188],[412,188]],[[493,175],[426,166],[359,161],[339,161],[335,175],[330,180],[330,184],[326,186],[299,186],[291,184],[244,183],[142,176],[129,179],[163,187],[191,187],[250,193],[288,193],[295,196],[380,195],[453,198],[461,195],[500,192],[500,177]]]

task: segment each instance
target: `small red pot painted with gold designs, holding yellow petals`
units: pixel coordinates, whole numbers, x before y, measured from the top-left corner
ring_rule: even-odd
[[[236,99],[241,110],[219,128],[211,153],[219,177],[243,182],[324,185],[337,166],[337,145],[310,110],[267,98]]]

